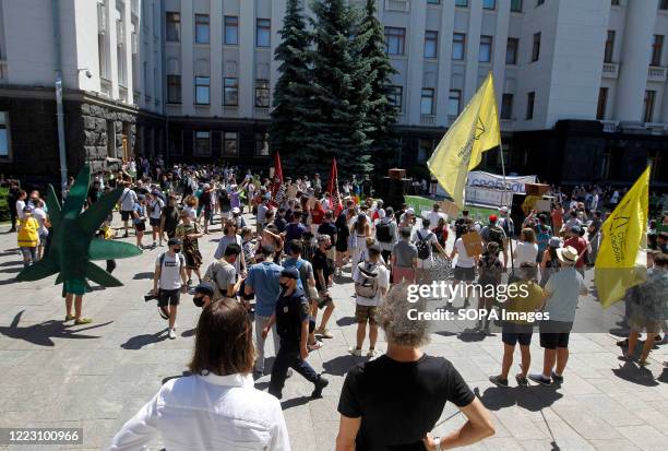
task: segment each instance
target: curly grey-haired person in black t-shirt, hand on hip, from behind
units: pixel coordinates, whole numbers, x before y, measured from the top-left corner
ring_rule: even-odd
[[[420,351],[429,339],[429,324],[417,312],[425,311],[426,301],[410,304],[406,298],[406,285],[395,285],[378,312],[387,353],[346,377],[338,401],[337,449],[441,450],[494,434],[489,412],[452,364]],[[431,437],[448,401],[468,422],[445,437]]]

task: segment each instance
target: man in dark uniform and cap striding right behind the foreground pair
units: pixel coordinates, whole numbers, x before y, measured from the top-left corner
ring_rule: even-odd
[[[276,332],[281,337],[281,348],[272,367],[272,379],[269,392],[281,399],[285,385],[288,368],[294,368],[315,388],[312,397],[322,397],[322,389],[330,383],[315,372],[306,361],[309,356],[307,347],[309,336],[309,301],[303,290],[297,287],[299,271],[297,268],[286,268],[281,272],[281,295],[276,301],[276,310],[262,330],[262,337],[266,340],[272,325],[276,324]]]

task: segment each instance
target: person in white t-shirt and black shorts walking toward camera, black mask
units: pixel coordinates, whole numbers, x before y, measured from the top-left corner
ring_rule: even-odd
[[[186,275],[186,258],[181,253],[183,242],[178,238],[167,241],[169,250],[155,260],[152,295],[158,297],[158,308],[164,318],[169,320],[168,335],[176,339],[177,307],[181,293],[188,287]]]

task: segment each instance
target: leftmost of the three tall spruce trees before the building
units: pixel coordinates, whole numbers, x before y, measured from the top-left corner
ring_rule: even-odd
[[[310,33],[306,27],[302,2],[287,0],[283,28],[279,31],[282,43],[274,52],[281,66],[274,88],[270,142],[274,151],[281,152],[288,174],[303,165],[312,166],[318,159],[317,155],[303,152],[303,145],[310,137],[305,121],[311,114],[311,71]]]

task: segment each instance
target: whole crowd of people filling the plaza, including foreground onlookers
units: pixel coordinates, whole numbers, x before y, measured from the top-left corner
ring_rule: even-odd
[[[532,211],[515,224],[506,206],[481,223],[467,211],[457,218],[448,217],[439,202],[428,212],[416,212],[406,204],[384,205],[371,197],[368,177],[353,177],[334,193],[325,192],[324,185],[315,174],[286,178],[276,189],[272,179],[252,170],[216,165],[165,168],[159,159],[154,164],[131,162],[117,173],[94,176],[87,205],[105,191],[123,188],[118,202],[123,223],[119,238],[133,234],[138,247],[164,248],[156,251],[150,295],[157,298],[168,337],[177,337],[182,294],[190,293],[202,308],[190,364],[193,375],[165,384],[119,431],[112,449],[135,449],[155,435],[162,435],[168,449],[204,449],[211,443],[234,449],[247,442],[289,449],[275,399],[282,399],[291,369],[313,384],[313,397],[322,396],[329,381],[310,366],[309,353],[336,341],[327,324],[341,299],[330,290],[348,281],[354,284],[357,323],[355,345],[348,353],[370,359],[346,377],[338,404],[338,449],[355,444],[360,449],[397,444],[443,449],[493,434],[489,413],[456,369],[420,351],[428,342],[428,324],[407,320],[407,284],[446,280],[453,285],[497,286],[506,281],[522,285],[528,296],[511,297],[503,308],[550,313],[550,320],[539,325],[542,368],[529,373],[534,327],[508,321],[502,324],[502,368],[490,381],[509,387],[518,343],[518,385],[527,387],[529,380],[545,385],[563,383],[569,335],[578,298],[587,292],[585,270],[596,260],[603,222],[623,190],[576,187],[565,195],[552,188],[554,202],[549,212]],[[29,265],[39,259],[39,247],[48,247],[48,211],[38,192],[14,191],[19,245]],[[660,209],[658,203],[656,207]],[[659,225],[668,226],[667,215],[651,227],[660,230]],[[105,235],[109,223],[103,227]],[[218,245],[213,256],[203,256],[198,240],[211,234],[217,235]],[[631,332],[621,344],[629,349],[624,358],[634,358],[640,333],[647,332],[640,365],[646,365],[652,348],[647,343],[654,345],[655,335],[664,340],[659,334],[668,318],[666,297],[656,295],[668,293],[668,233],[655,235],[651,277],[629,295]],[[472,237],[479,241],[481,252],[470,251]],[[509,269],[510,277],[504,275]],[[83,293],[70,295],[79,296],[79,308],[72,316],[68,307],[65,320],[90,322],[81,317]],[[464,306],[470,300],[466,292]],[[493,295],[479,296],[477,301],[486,310],[499,304]],[[387,349],[374,358],[380,351],[379,328],[386,335]],[[489,335],[490,320],[481,318],[474,332]],[[270,334],[276,358],[267,368]],[[228,339],[222,344],[211,340],[213,335]],[[265,373],[271,375],[269,393],[273,396],[253,388],[253,378]],[[398,393],[396,387],[405,390]],[[429,432],[446,401],[455,403],[468,423],[446,437],[434,438]],[[420,415],[409,405],[420,410]],[[227,414],[214,420],[211,413],[222,410]],[[183,428],[183,418],[196,426]],[[227,434],[240,418],[249,427]],[[181,427],[172,427],[177,423]]]

